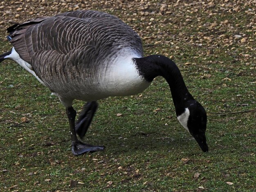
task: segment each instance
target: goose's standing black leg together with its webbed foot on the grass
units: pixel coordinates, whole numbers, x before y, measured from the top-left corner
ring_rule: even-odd
[[[72,146],[71,150],[72,153],[76,156],[83,154],[85,152],[95,152],[95,151],[102,151],[104,149],[103,146],[96,146],[96,145],[88,145],[81,141],[76,136],[76,130],[75,130],[75,118],[76,118],[76,111],[73,107],[67,107],[66,108],[68,121],[70,124],[70,132],[71,132],[71,141]]]

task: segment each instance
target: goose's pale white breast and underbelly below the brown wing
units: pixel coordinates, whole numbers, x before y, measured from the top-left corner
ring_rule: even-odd
[[[54,94],[62,98],[62,103],[78,99],[95,101],[109,96],[129,96],[143,92],[150,82],[139,75],[132,58],[139,58],[129,50],[121,50],[111,59],[106,58],[95,76],[84,78],[79,86],[67,85],[65,92],[61,90]],[[66,87],[66,88],[67,88]]]

